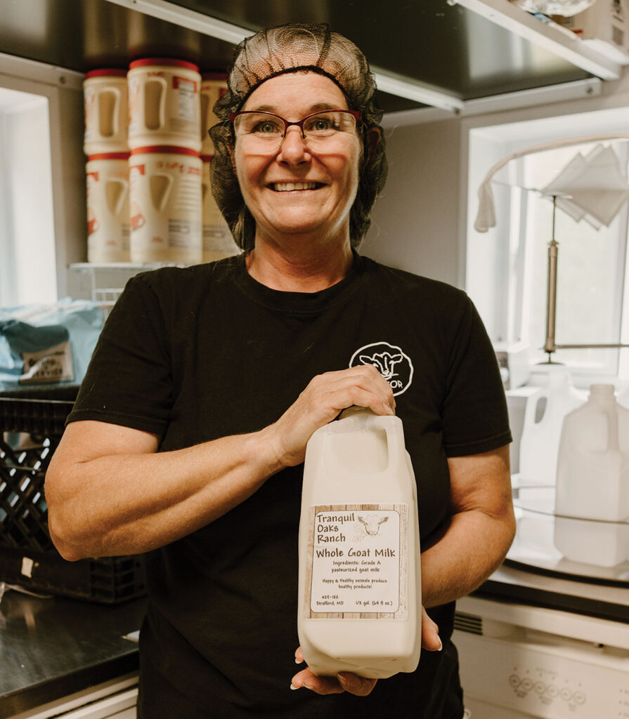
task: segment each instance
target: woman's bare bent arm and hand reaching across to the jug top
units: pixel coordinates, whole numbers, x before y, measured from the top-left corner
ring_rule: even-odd
[[[283,467],[304,461],[312,432],[353,404],[392,414],[374,367],[317,375],[273,424],[173,452],[148,432],[68,425],[46,475],[50,536],[66,559],[155,549],[214,521]]]

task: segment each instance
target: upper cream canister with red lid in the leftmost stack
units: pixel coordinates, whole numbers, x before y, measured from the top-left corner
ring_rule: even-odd
[[[127,152],[127,71],[90,70],[83,81],[86,155]]]

